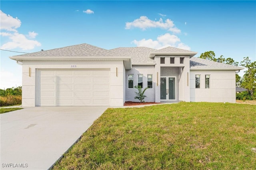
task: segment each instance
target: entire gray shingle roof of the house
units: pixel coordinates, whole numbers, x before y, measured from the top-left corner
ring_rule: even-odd
[[[156,50],[148,47],[119,47],[116,49],[106,50],[89,44],[72,45],[57,49],[46,51],[39,51],[36,53],[29,53],[24,55],[17,55],[15,57],[131,57],[132,63],[154,63],[154,59],[150,59],[150,53],[191,53],[184,49],[174,47],[166,47],[164,49]],[[195,53],[195,52],[192,52]],[[229,64],[218,63],[196,57],[190,58],[190,68],[223,68],[223,69],[243,69],[242,67],[232,66]]]

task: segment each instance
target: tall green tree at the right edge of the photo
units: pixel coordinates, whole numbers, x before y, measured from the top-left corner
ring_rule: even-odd
[[[248,89],[251,96],[253,96],[253,92],[256,89],[256,61],[251,62],[249,57],[244,57],[240,65],[246,68],[241,86]]]

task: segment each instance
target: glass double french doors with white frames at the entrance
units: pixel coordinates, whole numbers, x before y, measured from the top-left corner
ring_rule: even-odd
[[[160,100],[176,100],[175,79],[175,77],[160,77]]]

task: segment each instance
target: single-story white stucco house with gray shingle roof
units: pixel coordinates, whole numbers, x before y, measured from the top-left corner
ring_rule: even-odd
[[[134,86],[145,102],[236,102],[242,67],[167,47],[102,49],[73,45],[10,57],[22,64],[22,106],[123,106]]]

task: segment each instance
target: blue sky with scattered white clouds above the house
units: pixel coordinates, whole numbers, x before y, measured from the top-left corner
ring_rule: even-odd
[[[256,61],[256,1],[0,1],[4,50],[32,53],[81,43],[104,49],[166,46]],[[22,66],[0,51],[1,85]],[[242,72],[240,75],[242,75]]]

